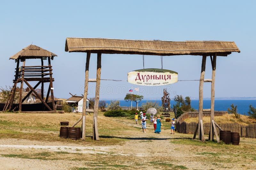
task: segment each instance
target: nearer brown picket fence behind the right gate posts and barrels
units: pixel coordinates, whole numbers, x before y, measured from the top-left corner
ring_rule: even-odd
[[[204,123],[204,134],[210,134],[210,123]],[[256,124],[249,124],[248,126],[242,124],[219,124],[223,131],[231,131],[231,132],[238,132],[240,137],[243,138],[256,138]],[[187,133],[187,134],[194,134],[196,130],[197,123],[191,122],[177,122],[176,130],[179,133]],[[217,128],[218,134],[220,134],[220,129]]]

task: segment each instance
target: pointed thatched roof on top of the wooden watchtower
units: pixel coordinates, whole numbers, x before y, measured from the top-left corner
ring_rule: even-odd
[[[10,57],[10,59],[18,59],[18,58],[37,59],[42,57],[53,57],[53,56],[57,56],[57,55],[39,46],[35,46],[31,44],[23,48],[20,52],[14,54],[12,57]]]

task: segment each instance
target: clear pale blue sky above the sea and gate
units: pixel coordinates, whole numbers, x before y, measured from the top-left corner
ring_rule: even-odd
[[[85,53],[65,52],[67,37],[160,39],[170,41],[235,41],[241,53],[217,57],[215,97],[255,97],[255,1],[4,1],[0,6],[0,86],[12,85],[15,62],[8,60],[32,42],[58,55],[52,61],[54,96],[81,95]],[[164,56],[163,68],[178,72],[179,80],[198,80],[201,56]],[[40,60],[26,61],[38,65]],[[143,68],[141,55],[102,54],[102,79],[127,80],[127,73]],[[145,56],[145,68],[161,68],[160,56]],[[211,79],[210,59],[205,78]],[[96,54],[89,78],[96,78]],[[101,99],[123,99],[134,85],[101,81]],[[139,87],[146,99],[160,99],[163,88],[198,97],[199,81],[166,87]],[[89,84],[94,97],[95,84]],[[204,83],[204,97],[210,97]]]

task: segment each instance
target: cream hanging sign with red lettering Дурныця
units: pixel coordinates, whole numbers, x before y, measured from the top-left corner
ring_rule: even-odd
[[[128,73],[128,82],[141,86],[163,86],[177,81],[178,73],[172,70],[146,68]]]

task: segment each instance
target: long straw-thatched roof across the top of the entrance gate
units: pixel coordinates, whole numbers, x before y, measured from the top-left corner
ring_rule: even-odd
[[[145,55],[212,55],[227,56],[240,50],[231,41],[160,41],[101,38],[67,38],[65,51]]]

